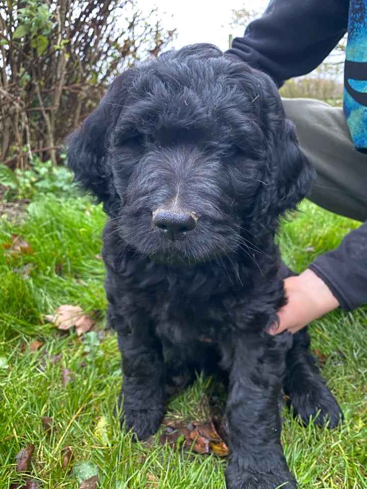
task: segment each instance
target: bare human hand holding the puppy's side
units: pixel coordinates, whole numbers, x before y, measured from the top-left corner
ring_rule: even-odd
[[[313,319],[318,319],[339,306],[329,287],[312,270],[284,280],[287,304],[279,309],[279,327],[268,329],[271,335],[282,331],[297,333]]]

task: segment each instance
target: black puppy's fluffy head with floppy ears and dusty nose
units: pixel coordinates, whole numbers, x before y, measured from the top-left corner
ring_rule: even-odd
[[[127,70],[67,144],[121,238],[170,263],[271,236],[313,177],[272,80],[208,44]]]

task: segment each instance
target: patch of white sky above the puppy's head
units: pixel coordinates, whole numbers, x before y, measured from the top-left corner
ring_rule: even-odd
[[[246,25],[237,32],[231,31],[229,21],[232,10],[246,8],[263,12],[269,0],[137,0],[144,12],[153,6],[158,8],[162,26],[176,28],[177,39],[169,48],[180,48],[186,44],[209,42],[220,49],[228,48],[229,34],[242,36]]]

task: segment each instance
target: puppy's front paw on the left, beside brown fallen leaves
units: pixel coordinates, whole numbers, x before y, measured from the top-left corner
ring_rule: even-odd
[[[125,410],[121,416],[121,425],[126,432],[132,431],[139,440],[146,440],[158,431],[164,412],[161,410]]]

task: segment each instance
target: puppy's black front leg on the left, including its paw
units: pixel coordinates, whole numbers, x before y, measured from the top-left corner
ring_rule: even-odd
[[[160,343],[142,323],[117,328],[123,381],[121,423],[140,440],[155,433],[165,412],[164,364]]]

